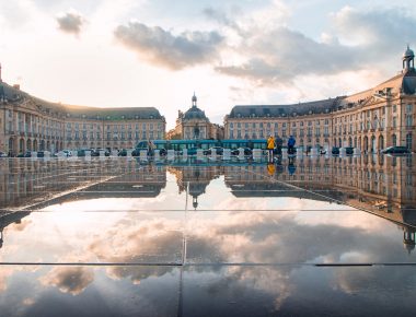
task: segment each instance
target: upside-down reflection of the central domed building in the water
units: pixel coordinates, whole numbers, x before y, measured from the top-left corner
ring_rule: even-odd
[[[198,207],[198,197],[205,193],[209,183],[217,178],[220,167],[200,167],[200,166],[185,166],[185,167],[169,167],[169,172],[176,176],[177,187],[180,192],[187,191],[193,198],[193,208],[196,210]]]

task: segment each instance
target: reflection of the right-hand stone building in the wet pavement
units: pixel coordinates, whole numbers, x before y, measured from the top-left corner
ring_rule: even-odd
[[[277,165],[274,178],[267,178],[267,166],[247,165],[243,173],[236,166],[224,168],[226,185],[235,197],[331,198],[334,202],[370,211],[400,223],[407,249],[415,246],[416,166],[412,156],[358,156],[294,161],[290,175],[286,161]],[[287,190],[285,184],[300,190]],[[304,190],[305,189],[305,190]]]

